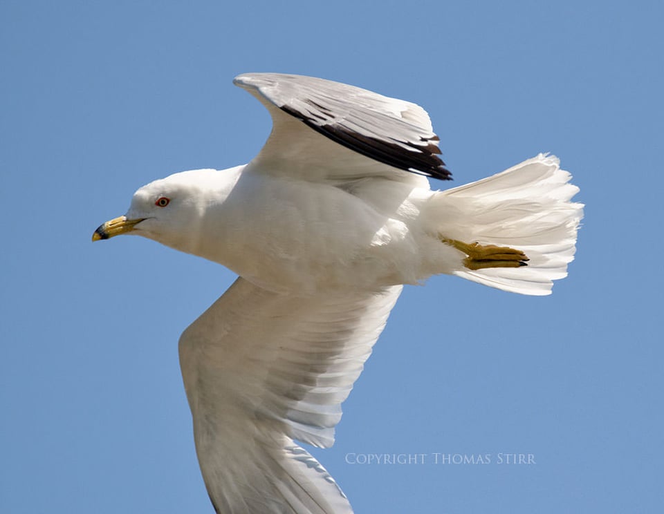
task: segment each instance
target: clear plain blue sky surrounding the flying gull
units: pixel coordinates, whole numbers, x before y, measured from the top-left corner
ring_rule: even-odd
[[[234,276],[90,239],[142,184],[257,153],[248,71],[421,104],[457,185],[550,151],[587,204],[553,296],[405,289],[313,450],[356,512],[661,512],[663,5],[3,0],[0,512],[212,513],[177,341]]]

